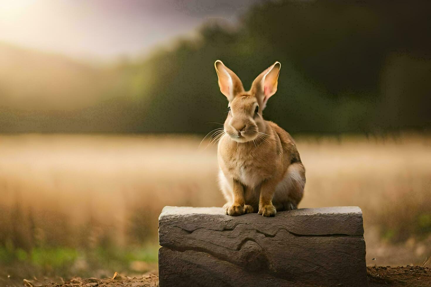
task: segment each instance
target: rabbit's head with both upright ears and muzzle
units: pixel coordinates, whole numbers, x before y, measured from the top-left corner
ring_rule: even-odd
[[[244,91],[238,76],[226,67],[222,61],[215,61],[215,71],[219,77],[220,91],[228,98],[229,112],[224,129],[236,142],[249,142],[259,133],[265,133],[265,121],[262,111],[269,97],[277,91],[277,80],[281,64],[275,62],[263,71]]]

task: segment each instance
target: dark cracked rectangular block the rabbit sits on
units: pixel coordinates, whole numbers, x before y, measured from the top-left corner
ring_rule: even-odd
[[[366,286],[359,207],[224,215],[219,207],[165,207],[160,286]]]

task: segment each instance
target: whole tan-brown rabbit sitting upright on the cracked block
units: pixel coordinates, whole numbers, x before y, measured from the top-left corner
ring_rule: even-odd
[[[253,81],[250,91],[220,60],[215,61],[221,92],[229,112],[218,145],[219,182],[231,216],[259,211],[296,209],[305,186],[305,168],[292,137],[264,120],[262,111],[277,91],[280,63],[275,62]]]

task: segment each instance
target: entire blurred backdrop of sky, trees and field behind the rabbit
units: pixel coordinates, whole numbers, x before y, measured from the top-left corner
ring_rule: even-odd
[[[162,207],[224,204],[216,59],[246,89],[281,62],[264,114],[297,141],[300,207],[361,207],[368,265],[430,265],[430,8],[3,0],[0,282],[156,273]]]

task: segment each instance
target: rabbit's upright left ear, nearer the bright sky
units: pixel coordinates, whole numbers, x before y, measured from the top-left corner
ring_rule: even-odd
[[[215,61],[214,67],[219,77],[220,91],[228,98],[229,102],[234,99],[237,93],[244,92],[240,78],[226,67],[222,61]]]

